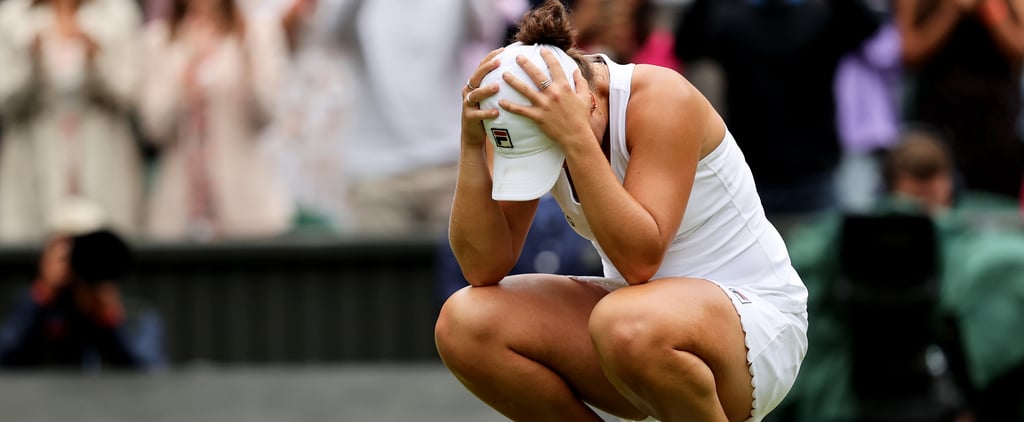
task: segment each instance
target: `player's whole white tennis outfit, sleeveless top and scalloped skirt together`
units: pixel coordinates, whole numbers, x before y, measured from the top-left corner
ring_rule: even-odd
[[[611,168],[622,181],[630,161],[626,108],[635,65],[608,67]],[[684,116],[678,118],[684,119]],[[626,286],[594,239],[564,170],[552,188],[569,224],[601,255],[605,286]],[[790,391],[807,352],[807,288],[790,262],[782,237],[768,221],[742,152],[726,132],[697,164],[682,224],[653,279],[688,277],[719,285],[732,299],[745,332],[759,422]]]

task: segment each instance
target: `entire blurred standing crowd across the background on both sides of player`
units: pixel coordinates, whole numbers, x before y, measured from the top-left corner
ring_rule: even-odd
[[[158,241],[440,231],[460,87],[532,3],[2,0],[0,242],[82,199]],[[908,123],[956,192],[1021,198],[1017,2],[567,4],[585,51],[712,97],[770,215],[869,206]]]

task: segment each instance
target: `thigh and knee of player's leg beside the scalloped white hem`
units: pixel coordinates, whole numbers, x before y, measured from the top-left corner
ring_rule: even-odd
[[[592,324],[598,344],[628,349],[621,357],[631,362],[649,364],[676,350],[696,355],[714,374],[715,390],[729,420],[750,416],[753,387],[743,327],[732,300],[717,284],[671,278],[618,289],[601,300]],[[609,333],[611,341],[602,341]]]

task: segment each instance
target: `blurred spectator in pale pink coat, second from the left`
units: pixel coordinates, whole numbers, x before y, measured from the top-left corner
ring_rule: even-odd
[[[232,0],[175,0],[144,33],[140,115],[161,147],[148,235],[209,241],[282,234],[293,205],[259,141],[288,65],[286,19]]]

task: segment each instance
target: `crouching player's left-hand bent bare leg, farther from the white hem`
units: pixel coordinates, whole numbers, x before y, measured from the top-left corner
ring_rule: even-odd
[[[441,308],[437,351],[473,394],[512,420],[600,421],[585,402],[642,419],[605,378],[588,332],[607,294],[545,275],[464,288]]]

